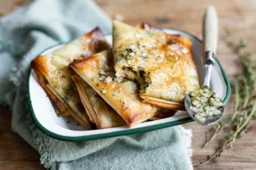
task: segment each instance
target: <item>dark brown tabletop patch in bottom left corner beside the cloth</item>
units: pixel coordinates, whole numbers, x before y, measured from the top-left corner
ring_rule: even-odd
[[[39,155],[11,129],[11,110],[0,107],[0,170],[42,169]]]

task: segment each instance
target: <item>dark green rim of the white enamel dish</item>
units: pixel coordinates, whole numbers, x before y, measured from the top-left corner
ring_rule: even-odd
[[[169,28],[169,29],[173,29],[175,31],[179,31],[182,32],[184,35],[187,36],[192,36],[191,34],[183,31],[183,30],[179,30],[179,29],[175,29],[175,28]],[[196,37],[196,36],[192,36],[192,38],[198,40],[199,42],[201,42],[201,40]],[[64,43],[58,44],[58,45],[63,45]],[[50,48],[53,48],[55,46],[58,45],[53,45],[49,48],[47,48],[46,50],[44,50],[42,53],[44,53],[45,51],[47,51]],[[40,56],[41,53],[38,54],[38,56]],[[227,103],[227,101],[230,98],[231,95],[231,86],[229,84],[228,78],[226,76],[226,72],[223,69],[223,67],[221,66],[220,62],[218,61],[218,59],[215,59],[217,61],[218,67],[221,70],[222,76],[225,80],[225,84],[226,84],[226,96],[223,100],[224,104]],[[78,142],[78,141],[87,141],[87,140],[97,140],[97,139],[102,139],[102,138],[108,138],[108,137],[115,137],[115,136],[121,136],[121,135],[127,135],[127,134],[137,134],[137,133],[143,133],[143,132],[149,132],[152,130],[157,130],[157,129],[161,129],[161,128],[165,128],[165,127],[169,127],[169,126],[175,126],[175,125],[182,125],[185,123],[189,123],[192,122],[193,119],[191,117],[185,117],[179,120],[175,120],[172,122],[166,122],[166,123],[162,123],[162,124],[158,124],[158,125],[149,125],[146,127],[140,127],[140,128],[136,128],[136,129],[130,129],[130,130],[125,130],[125,131],[119,131],[119,132],[113,132],[113,133],[107,133],[107,134],[92,134],[89,136],[64,136],[64,135],[60,135],[60,134],[55,134],[49,130],[47,130],[46,127],[44,127],[43,125],[41,125],[38,121],[38,118],[35,115],[34,109],[32,107],[31,104],[31,99],[30,99],[30,72],[31,72],[31,68],[29,71],[29,78],[28,78],[28,84],[27,84],[27,93],[28,93],[28,101],[29,101],[29,108],[30,108],[30,115],[33,119],[33,121],[36,123],[36,125],[38,126],[38,129],[40,131],[42,131],[44,134],[47,134],[50,137],[53,137],[55,139],[58,140],[62,140],[62,141],[70,141],[70,142]]]

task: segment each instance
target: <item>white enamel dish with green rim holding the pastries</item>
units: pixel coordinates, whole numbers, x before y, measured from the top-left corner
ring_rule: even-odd
[[[183,36],[188,36],[192,39],[193,57],[197,65],[200,81],[202,82],[202,77],[204,73],[202,68],[201,41],[197,37],[192,36],[181,30],[167,28],[163,30],[169,34],[179,34]],[[111,35],[107,35],[107,41],[109,43],[112,42]],[[52,46],[44,52],[38,54],[38,56],[41,54],[52,52],[62,46],[64,46],[64,44]],[[226,73],[218,60],[216,60],[216,64],[212,70],[211,80],[211,89],[215,93],[218,93],[218,95],[223,99],[223,102],[226,104],[226,102],[229,100],[231,89],[229,81],[226,77]],[[37,77],[31,69],[28,79],[28,98],[30,105],[30,114],[36,125],[38,125],[38,128],[43,133],[53,138],[64,141],[85,141],[126,134],[142,133],[168,126],[181,125],[193,121],[186,112],[178,111],[174,117],[167,117],[160,120],[144,122],[140,125],[135,125],[132,128],[123,126],[86,131],[83,127],[81,127],[81,125],[78,125],[73,120],[73,118],[56,116],[55,109],[49,101],[47,94],[38,84]]]

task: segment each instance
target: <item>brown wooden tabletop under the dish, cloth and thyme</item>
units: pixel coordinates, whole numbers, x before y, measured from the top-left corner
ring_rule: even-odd
[[[26,0],[0,0],[0,14],[11,12],[15,6],[24,4]],[[255,52],[256,42],[256,1],[253,0],[96,0],[100,7],[112,18],[123,18],[124,22],[135,25],[147,21],[158,28],[180,28],[201,37],[201,18],[204,8],[213,4],[218,10],[220,35],[222,28],[228,27],[233,32],[234,41],[245,38],[248,48]],[[237,58],[219,38],[218,59],[221,61],[228,77],[234,77],[239,72]],[[256,60],[256,57],[254,57]],[[232,114],[229,104],[226,113]],[[29,144],[11,130],[11,111],[0,108],[0,169],[43,169],[39,164],[39,156]],[[217,147],[218,142],[212,142],[202,149],[205,133],[209,127],[189,123],[184,127],[192,129],[192,163],[198,165]],[[219,136],[219,140],[224,136]],[[204,169],[256,169],[256,124],[242,139],[237,140],[234,149],[226,159],[226,152],[214,164]]]

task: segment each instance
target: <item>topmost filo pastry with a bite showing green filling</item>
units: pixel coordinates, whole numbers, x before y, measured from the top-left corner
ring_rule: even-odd
[[[184,95],[200,87],[192,41],[149,25],[140,27],[113,21],[115,75],[136,80],[144,102],[184,109]]]

